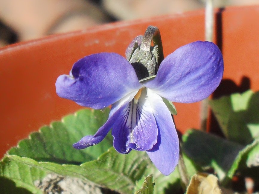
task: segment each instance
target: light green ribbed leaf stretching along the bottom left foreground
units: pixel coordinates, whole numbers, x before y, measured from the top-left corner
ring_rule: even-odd
[[[128,155],[119,154],[113,148],[98,160],[78,165],[37,162],[30,158],[15,155],[4,157],[1,161],[0,176],[15,182],[33,193],[40,193],[35,181],[42,181],[47,175],[75,177],[91,181],[121,193],[132,193],[135,182],[141,179],[151,161],[145,152],[132,151]]]

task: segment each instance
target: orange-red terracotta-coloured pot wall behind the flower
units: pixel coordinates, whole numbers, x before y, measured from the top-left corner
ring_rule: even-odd
[[[224,79],[229,79],[220,85],[216,96],[224,90],[258,90],[259,6],[228,7],[215,10],[215,15],[214,42],[223,51]],[[99,52],[124,55],[129,42],[149,25],[159,27],[165,56],[184,44],[204,40],[204,10],[198,10],[106,24],[2,48],[0,156],[42,125],[82,108],[59,98],[54,86],[56,78],[67,74],[77,59]],[[242,87],[237,87],[242,79]],[[176,108],[175,122],[181,132],[200,127],[200,103],[176,104]]]

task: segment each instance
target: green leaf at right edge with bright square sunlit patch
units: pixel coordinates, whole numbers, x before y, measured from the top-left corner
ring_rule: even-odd
[[[251,90],[210,101],[211,108],[231,141],[246,145],[258,138],[259,92]]]

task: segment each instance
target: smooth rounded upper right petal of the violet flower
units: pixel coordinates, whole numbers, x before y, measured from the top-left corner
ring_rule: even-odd
[[[144,86],[173,102],[191,103],[207,98],[220,84],[223,58],[212,42],[182,46],[160,64],[156,78]]]

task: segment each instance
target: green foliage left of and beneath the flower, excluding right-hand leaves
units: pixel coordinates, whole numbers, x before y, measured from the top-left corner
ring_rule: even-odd
[[[69,181],[91,183],[119,193],[181,191],[177,168],[169,176],[164,176],[145,152],[132,150],[127,155],[116,152],[110,148],[110,134],[100,144],[87,149],[76,150],[72,147],[83,136],[94,134],[108,114],[109,109],[80,110],[20,141],[19,146],[11,148],[0,161],[2,191],[42,193],[47,187],[44,182],[61,183],[68,178]],[[191,176],[196,172],[195,167],[187,157],[185,161]],[[152,186],[146,190],[151,183]]]

